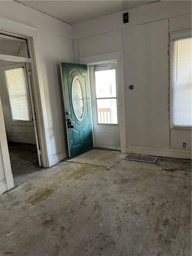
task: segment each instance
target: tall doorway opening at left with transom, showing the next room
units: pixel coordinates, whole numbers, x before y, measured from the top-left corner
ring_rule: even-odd
[[[23,62],[30,56],[27,39],[0,34],[0,43],[0,96],[11,169],[16,177],[42,169],[31,67]]]

